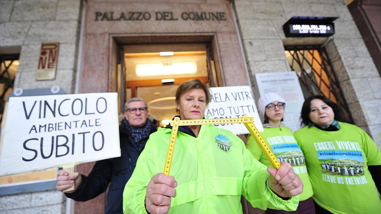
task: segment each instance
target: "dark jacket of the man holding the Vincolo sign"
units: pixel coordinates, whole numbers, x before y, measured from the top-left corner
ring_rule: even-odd
[[[150,133],[154,133],[157,129],[155,122],[152,123]],[[90,174],[87,177],[82,175],[82,182],[77,190],[74,193],[66,194],[68,198],[75,201],[93,199],[105,192],[111,182],[107,193],[106,214],[123,214],[123,190],[131,177],[142,149],[138,149],[138,145],[127,132],[123,122],[119,127],[119,133],[121,156],[96,161]],[[144,145],[147,140],[148,137],[145,139]]]

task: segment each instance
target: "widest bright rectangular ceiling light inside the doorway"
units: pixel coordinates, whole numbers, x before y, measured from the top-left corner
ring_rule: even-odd
[[[135,73],[138,77],[197,73],[197,64],[196,62],[173,62],[172,65],[163,65],[162,63],[137,64]]]

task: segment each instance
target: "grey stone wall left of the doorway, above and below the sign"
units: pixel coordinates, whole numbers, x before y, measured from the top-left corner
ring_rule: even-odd
[[[0,1],[0,55],[19,54],[14,88],[59,85],[65,93],[75,93],[82,5],[80,0]],[[60,43],[56,78],[37,81],[40,48],[46,42]],[[35,192],[32,188],[0,196],[0,213],[66,213],[66,204],[66,197],[55,189]]]

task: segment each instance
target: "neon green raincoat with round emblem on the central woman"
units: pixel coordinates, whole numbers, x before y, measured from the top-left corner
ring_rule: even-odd
[[[147,184],[164,170],[170,135],[168,128],[150,135],[123,192],[125,214],[147,213]],[[202,125],[198,137],[179,131],[170,170],[178,183],[177,195],[168,213],[240,214],[241,195],[253,207],[295,211],[299,195],[289,200],[275,195],[267,185],[266,169],[230,131],[213,125]]]

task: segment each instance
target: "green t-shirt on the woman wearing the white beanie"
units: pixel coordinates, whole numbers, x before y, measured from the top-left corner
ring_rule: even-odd
[[[302,179],[304,187],[303,193],[300,195],[300,201],[311,198],[314,194],[312,185],[308,177],[304,155],[299,145],[296,143],[295,137],[290,128],[286,126],[264,128],[261,132],[263,139],[271,147],[272,152],[277,156],[278,161],[286,161],[291,164],[295,173]],[[259,145],[255,142],[253,136],[247,139],[246,148],[253,156],[267,167],[272,167],[266,155],[263,154]]]

